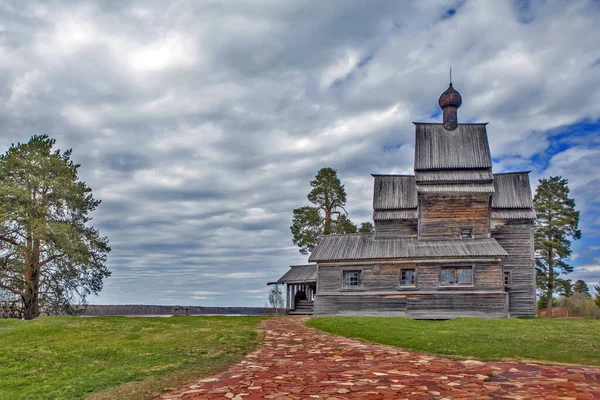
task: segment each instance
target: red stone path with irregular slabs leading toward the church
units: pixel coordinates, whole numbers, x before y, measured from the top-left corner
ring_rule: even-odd
[[[600,368],[453,361],[265,321],[264,345],[159,399],[600,399]]]

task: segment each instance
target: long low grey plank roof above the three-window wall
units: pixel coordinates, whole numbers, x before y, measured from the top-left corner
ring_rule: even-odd
[[[375,239],[372,233],[322,236],[308,259],[310,262],[381,260],[401,258],[506,257],[491,238],[418,240]]]

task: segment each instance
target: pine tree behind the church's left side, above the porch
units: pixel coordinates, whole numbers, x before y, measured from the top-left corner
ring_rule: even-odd
[[[314,206],[293,211],[290,230],[293,242],[301,254],[309,254],[317,245],[320,235],[355,233],[356,225],[347,217],[346,190],[333,168],[321,168],[310,182],[308,200]]]

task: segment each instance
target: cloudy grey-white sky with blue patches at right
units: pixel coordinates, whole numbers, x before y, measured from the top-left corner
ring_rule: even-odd
[[[93,304],[263,306],[332,167],[355,223],[371,173],[412,173],[412,121],[489,122],[494,172],[569,180],[600,281],[598,1],[1,1],[0,152],[73,149],[110,240]]]

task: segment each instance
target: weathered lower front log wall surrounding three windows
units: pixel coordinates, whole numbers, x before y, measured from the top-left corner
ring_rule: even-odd
[[[320,264],[315,315],[396,315],[422,319],[506,317],[507,296],[500,263],[465,264],[457,260],[456,265],[473,265],[473,287],[440,288],[440,265],[436,263]],[[416,288],[399,288],[402,268],[416,269]],[[343,288],[343,270],[361,270],[362,287]]]

